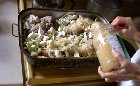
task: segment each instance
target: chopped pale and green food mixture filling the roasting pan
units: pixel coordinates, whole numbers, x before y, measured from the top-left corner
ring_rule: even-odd
[[[82,15],[67,13],[53,22],[53,16],[39,18],[30,15],[25,19],[28,30],[25,49],[37,57],[95,57],[93,33],[89,31],[95,21]]]

